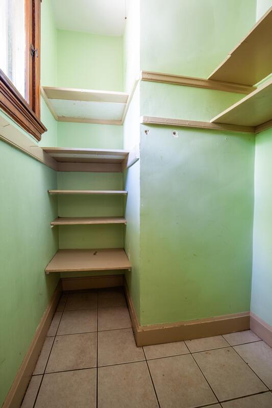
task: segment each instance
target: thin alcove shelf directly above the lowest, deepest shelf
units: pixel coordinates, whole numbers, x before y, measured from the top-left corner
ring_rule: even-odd
[[[123,217],[58,217],[51,225],[126,224]]]

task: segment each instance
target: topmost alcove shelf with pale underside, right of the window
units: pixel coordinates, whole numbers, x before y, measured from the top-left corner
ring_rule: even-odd
[[[122,124],[129,95],[123,92],[42,87],[41,93],[56,120]]]

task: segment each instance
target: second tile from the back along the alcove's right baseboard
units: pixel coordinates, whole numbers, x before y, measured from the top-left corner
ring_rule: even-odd
[[[129,327],[131,327],[131,320],[127,307],[98,309],[98,331]]]

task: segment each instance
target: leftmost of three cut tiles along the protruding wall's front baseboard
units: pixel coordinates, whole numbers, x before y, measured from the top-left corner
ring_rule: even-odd
[[[154,346],[143,347],[146,359],[160,359],[162,357],[170,357],[171,355],[188,354],[189,350],[184,341],[175,343],[155,344]]]

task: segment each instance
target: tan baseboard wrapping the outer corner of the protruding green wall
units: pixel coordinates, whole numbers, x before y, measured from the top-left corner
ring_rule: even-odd
[[[176,323],[140,326],[126,282],[124,286],[138,347],[224,335],[250,328],[250,312]]]

